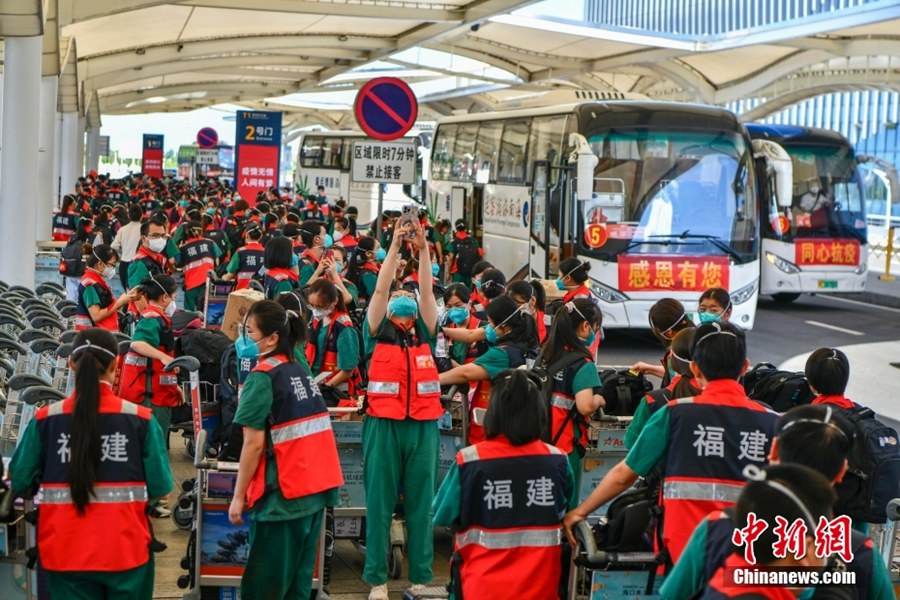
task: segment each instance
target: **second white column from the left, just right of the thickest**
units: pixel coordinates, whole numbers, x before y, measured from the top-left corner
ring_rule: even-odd
[[[56,92],[59,78],[41,79],[40,137],[38,154],[38,196],[35,235],[38,241],[50,239],[53,206],[56,200]]]

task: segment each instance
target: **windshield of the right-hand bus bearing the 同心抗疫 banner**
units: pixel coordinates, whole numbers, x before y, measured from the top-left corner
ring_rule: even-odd
[[[794,167],[791,224],[784,237],[865,241],[862,178],[849,146],[785,146]]]

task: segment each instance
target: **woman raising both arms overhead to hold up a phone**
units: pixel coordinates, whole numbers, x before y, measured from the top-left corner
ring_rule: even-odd
[[[405,290],[391,292],[400,244],[414,232],[421,263],[419,300]],[[387,551],[391,518],[403,487],[409,530],[409,581],[413,589],[433,577],[431,502],[437,485],[444,414],[433,352],[437,303],[431,285],[431,257],[418,222],[395,225],[375,292],[369,299],[363,336],[369,385],[363,421],[363,483],[366,490],[366,564],[369,600],[387,600]]]

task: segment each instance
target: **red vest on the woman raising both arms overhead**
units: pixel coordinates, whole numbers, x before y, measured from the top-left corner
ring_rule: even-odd
[[[375,340],[369,363],[366,414],[383,419],[439,419],[441,384],[429,346],[415,325],[388,320]]]

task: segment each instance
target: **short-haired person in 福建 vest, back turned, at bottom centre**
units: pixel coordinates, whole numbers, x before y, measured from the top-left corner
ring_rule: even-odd
[[[572,470],[541,441],[548,416],[536,378],[508,370],[494,381],[486,440],[457,453],[435,497],[434,524],[457,530],[451,586],[456,598],[556,598]]]

